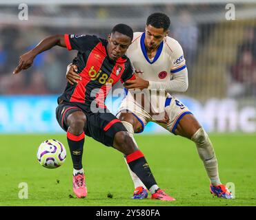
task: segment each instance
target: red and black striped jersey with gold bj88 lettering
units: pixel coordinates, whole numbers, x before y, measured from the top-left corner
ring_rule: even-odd
[[[81,80],[74,85],[67,83],[58,102],[79,102],[90,107],[95,101],[97,107],[105,108],[104,101],[111,86],[118,80],[125,82],[135,78],[127,56],[122,56],[117,61],[109,58],[105,39],[90,35],[65,34],[65,42],[68,50],[78,51],[72,63],[77,65]]]

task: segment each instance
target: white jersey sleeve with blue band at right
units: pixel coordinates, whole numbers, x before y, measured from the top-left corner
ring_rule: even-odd
[[[175,74],[182,69],[186,68],[186,61],[181,45],[176,41],[175,48],[172,56],[172,67],[170,69],[171,74]]]

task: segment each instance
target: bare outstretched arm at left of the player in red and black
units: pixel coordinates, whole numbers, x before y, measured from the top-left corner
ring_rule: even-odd
[[[19,65],[14,69],[13,74],[18,74],[22,69],[28,69],[32,66],[32,63],[41,52],[50,50],[50,48],[59,45],[60,47],[66,47],[64,35],[54,35],[48,36],[46,39],[43,39],[35,48],[26,52],[19,57]]]

